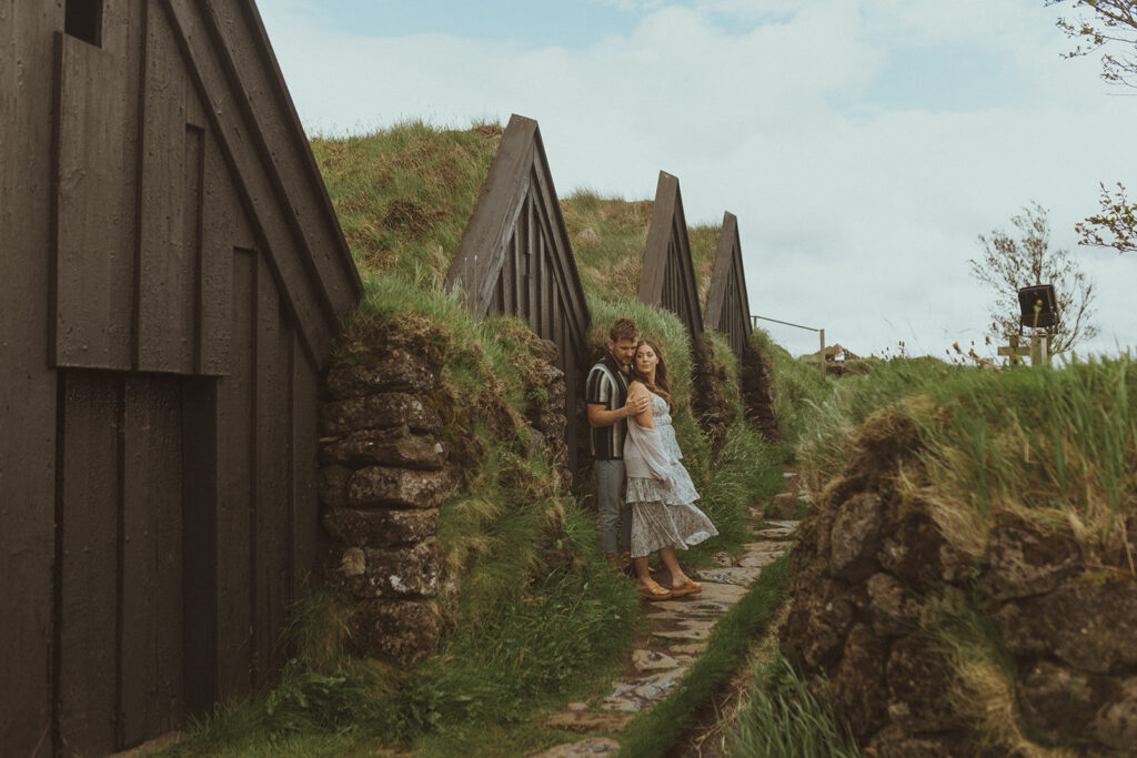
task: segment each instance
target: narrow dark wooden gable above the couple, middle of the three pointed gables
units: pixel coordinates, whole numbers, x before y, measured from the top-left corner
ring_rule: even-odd
[[[666,172],[659,172],[655,190],[639,299],[674,313],[691,338],[703,334],[703,314],[695,283],[695,266],[691,264],[691,243],[687,238],[683,199],[679,194],[679,180]]]

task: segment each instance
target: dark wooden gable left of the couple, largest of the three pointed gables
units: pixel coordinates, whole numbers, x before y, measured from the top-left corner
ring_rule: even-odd
[[[575,398],[589,314],[537,122],[511,116],[447,275],[471,313],[515,314],[556,343],[567,397]],[[576,415],[565,430],[576,468]]]

